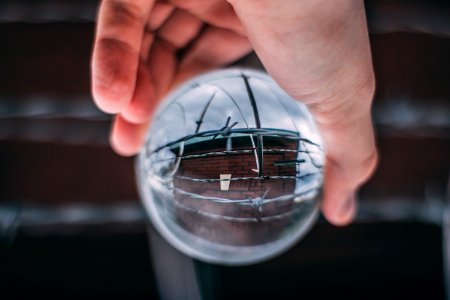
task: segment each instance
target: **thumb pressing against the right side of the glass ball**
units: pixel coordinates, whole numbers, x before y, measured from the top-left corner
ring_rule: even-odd
[[[352,114],[350,110],[353,109]],[[341,115],[340,122],[325,124],[319,121],[327,147],[322,212],[335,225],[352,221],[356,213],[356,192],[377,164],[370,111],[361,114],[356,110],[363,109],[355,106],[347,113],[336,111]]]

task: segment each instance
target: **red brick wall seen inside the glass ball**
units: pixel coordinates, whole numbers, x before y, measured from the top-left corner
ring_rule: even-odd
[[[233,150],[249,150],[251,144],[233,140]],[[237,145],[236,145],[237,144]],[[264,149],[297,150],[292,140],[264,140]],[[202,143],[185,148],[183,156],[224,151],[223,143]],[[295,165],[274,166],[279,160],[294,160],[295,152],[264,153],[264,176],[295,176]],[[199,179],[219,179],[220,174],[237,177],[257,177],[256,158],[253,152],[191,157],[183,159],[175,174],[174,186],[183,191],[208,197],[226,199],[247,199],[262,197],[275,198],[295,191],[294,179],[252,179],[232,180],[228,191],[220,189],[220,182],[196,182],[181,177]],[[198,199],[182,193],[175,193],[178,222],[192,233],[210,241],[231,245],[251,245],[268,242],[276,238],[279,231],[289,220],[292,201],[264,204],[261,207],[235,203],[217,203],[212,200]],[[284,215],[285,217],[280,217]],[[226,218],[223,218],[225,216]],[[273,218],[278,216],[278,218]],[[269,221],[267,218],[269,218]],[[244,221],[243,219],[247,219]],[[250,220],[250,221],[249,221]]]

